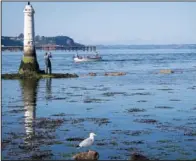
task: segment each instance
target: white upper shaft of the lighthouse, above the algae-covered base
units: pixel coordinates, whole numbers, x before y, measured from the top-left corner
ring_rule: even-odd
[[[24,54],[32,56],[35,54],[35,28],[34,28],[34,9],[30,2],[24,8]]]

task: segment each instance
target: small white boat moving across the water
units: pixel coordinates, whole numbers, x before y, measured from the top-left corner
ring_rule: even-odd
[[[74,62],[92,62],[101,61],[102,57],[97,53],[96,55],[79,56],[78,54],[73,58]]]

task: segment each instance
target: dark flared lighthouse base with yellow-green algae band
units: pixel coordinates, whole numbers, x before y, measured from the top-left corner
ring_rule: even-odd
[[[19,67],[19,74],[26,73],[41,73],[36,57],[23,56]]]

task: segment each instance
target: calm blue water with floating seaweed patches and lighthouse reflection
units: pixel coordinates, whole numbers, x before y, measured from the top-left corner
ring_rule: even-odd
[[[196,50],[99,52],[101,62],[74,63],[74,52],[52,51],[52,72],[78,78],[2,80],[2,158],[72,159],[91,149],[99,159],[130,159],[134,152],[196,159]],[[21,57],[2,52],[2,73],[16,73]],[[43,57],[37,51],[41,69]],[[97,134],[94,145],[77,149],[90,132]]]

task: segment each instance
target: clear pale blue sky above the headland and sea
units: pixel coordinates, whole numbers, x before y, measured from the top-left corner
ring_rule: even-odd
[[[27,2],[2,2],[2,36],[23,33]],[[32,2],[35,35],[85,45],[195,44],[195,2]]]

